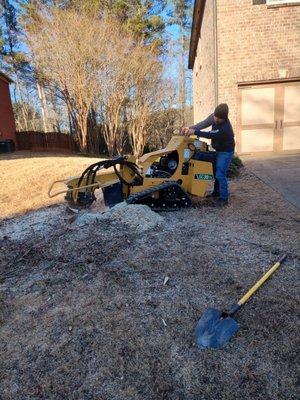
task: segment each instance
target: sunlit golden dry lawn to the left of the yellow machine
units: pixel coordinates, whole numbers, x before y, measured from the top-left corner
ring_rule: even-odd
[[[50,183],[76,176],[93,162],[95,158],[27,151],[0,155],[0,219],[62,201],[63,195],[49,199]]]

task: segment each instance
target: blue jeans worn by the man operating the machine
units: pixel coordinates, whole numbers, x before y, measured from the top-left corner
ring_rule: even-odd
[[[232,160],[234,152],[217,152],[216,157],[216,176],[214,193],[223,200],[228,200],[228,182],[227,172]]]

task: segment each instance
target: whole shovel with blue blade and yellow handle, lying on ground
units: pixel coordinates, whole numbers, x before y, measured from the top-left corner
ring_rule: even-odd
[[[214,308],[209,308],[205,311],[196,326],[196,343],[200,348],[218,349],[229,342],[239,329],[238,323],[232,317],[264,282],[274,274],[286,257],[286,255],[281,257],[228,312]]]

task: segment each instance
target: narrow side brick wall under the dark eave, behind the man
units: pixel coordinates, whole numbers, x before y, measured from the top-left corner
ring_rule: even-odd
[[[206,118],[215,108],[215,36],[213,1],[206,2],[201,38],[193,69],[194,121]]]

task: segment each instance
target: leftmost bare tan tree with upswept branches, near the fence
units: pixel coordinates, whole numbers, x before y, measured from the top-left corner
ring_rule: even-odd
[[[108,26],[90,15],[44,7],[39,18],[25,28],[33,62],[59,87],[75,119],[80,147],[86,151],[88,115],[99,94]]]

